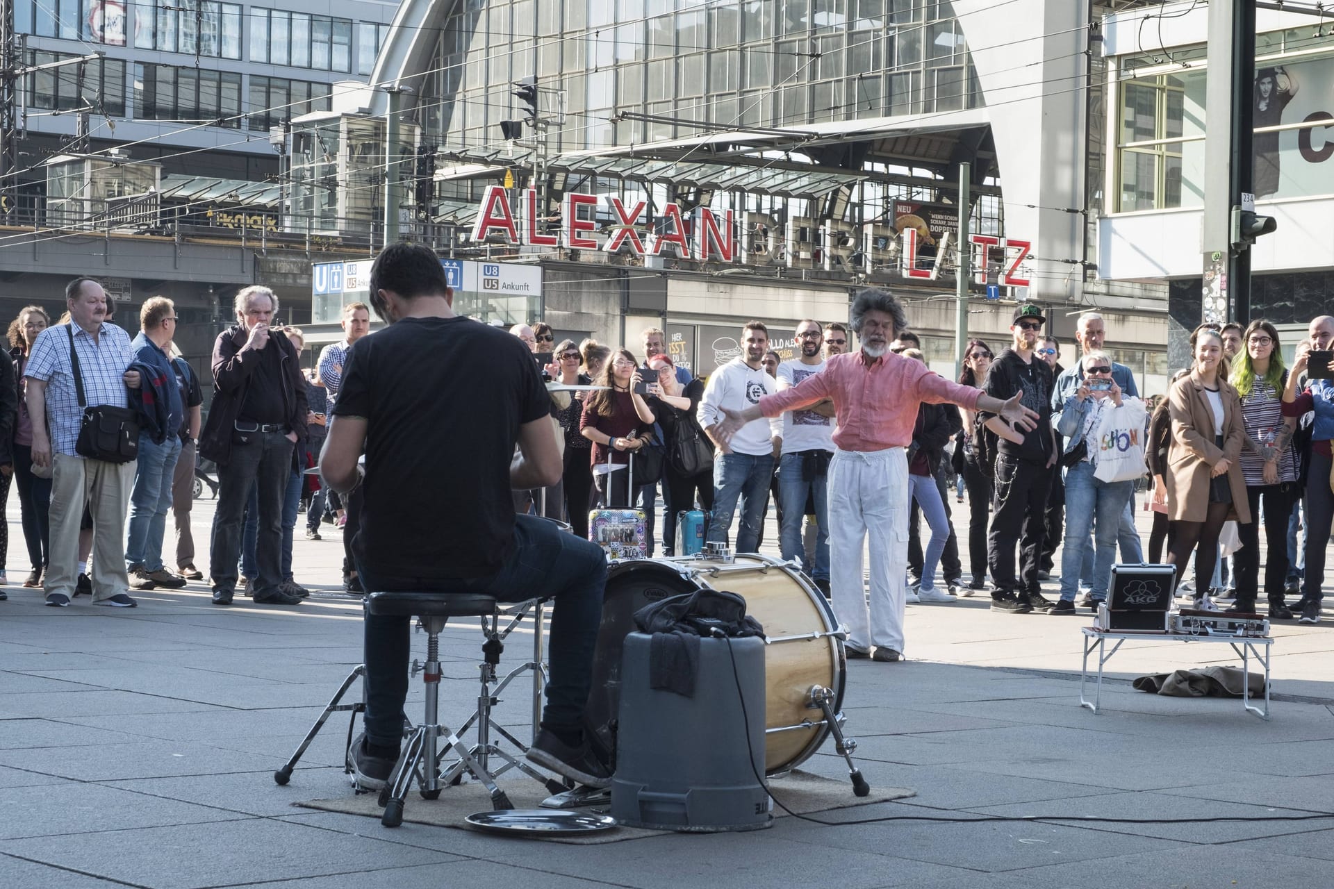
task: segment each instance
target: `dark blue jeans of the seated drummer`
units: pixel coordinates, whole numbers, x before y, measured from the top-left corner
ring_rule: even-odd
[[[514,538],[514,556],[492,577],[428,581],[395,577],[360,562],[358,568],[368,593],[484,593],[502,602],[522,602],[538,596],[554,600],[547,648],[551,673],[542,726],[559,734],[578,734],[588,702],[594,649],[602,624],[607,558],[596,544],[536,516],[515,516]],[[366,734],[376,746],[398,749],[403,738],[410,632],[407,617],[366,616]],[[452,653],[480,658],[480,649],[479,640],[468,638]],[[447,717],[442,720],[448,724]]]

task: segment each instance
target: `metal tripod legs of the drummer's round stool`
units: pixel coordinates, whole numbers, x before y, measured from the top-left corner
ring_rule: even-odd
[[[408,744],[399,757],[398,764],[394,766],[394,772],[390,774],[388,782],[380,792],[380,805],[384,806],[384,814],[380,817],[380,824],[387,828],[396,828],[403,824],[403,804],[407,798],[408,790],[412,788],[412,782],[416,781],[418,789],[424,800],[435,800],[440,796],[440,789],[454,780],[454,774],[442,776],[439,768],[440,754],[438,754],[438,740],[446,740],[446,750],[454,749],[459,754],[459,774],[463,769],[467,769],[478,781],[480,781],[487,792],[491,794],[491,805],[500,809],[512,809],[510,798],[506,796],[504,790],[496,786],[495,777],[487,772],[486,762],[476,761],[471,752],[464,746],[459,736],[455,734],[448,726],[440,725],[439,722],[439,693],[440,693],[440,638],[439,633],[444,629],[443,617],[422,617],[422,628],[427,632],[427,654],[426,664],[420,666],[422,681],[426,685],[426,714],[422,725],[416,726],[412,736],[408,738]],[[416,665],[414,665],[414,673],[416,673]],[[440,752],[443,753],[443,752]]]

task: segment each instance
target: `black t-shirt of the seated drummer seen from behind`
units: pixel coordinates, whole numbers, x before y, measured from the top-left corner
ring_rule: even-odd
[[[510,461],[551,411],[532,353],[471,319],[406,319],[356,341],[334,416],[367,420],[352,552],[371,573],[488,577],[514,552]]]

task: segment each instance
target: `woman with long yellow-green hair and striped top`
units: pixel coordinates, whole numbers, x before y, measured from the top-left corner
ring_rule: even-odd
[[[1297,421],[1282,416],[1287,371],[1278,343],[1278,331],[1265,319],[1251,321],[1242,336],[1242,349],[1233,363],[1231,384],[1242,400],[1246,444],[1242,448],[1242,476],[1253,520],[1238,524],[1242,548],[1237,550],[1237,601],[1231,612],[1254,612],[1259,580],[1259,502],[1265,501],[1265,596],[1269,616],[1291,618],[1283,602],[1287,576],[1287,517],[1297,496],[1297,452],[1293,432]]]

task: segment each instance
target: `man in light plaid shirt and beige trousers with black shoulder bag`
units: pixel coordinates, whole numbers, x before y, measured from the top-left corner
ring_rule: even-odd
[[[84,505],[93,520],[93,605],[133,608],[125,593],[125,508],[135,478],[133,462],[107,462],[75,453],[83,408],[75,388],[71,349],[88,405],[129,407],[125,388],[137,389],[139,372],[129,335],[107,324],[107,295],[97,281],[76,277],[65,287],[69,324],[47,328],[32,344],[24,368],[27,404],[32,417],[32,462],[55,466],[51,488],[51,565],[43,580],[47,605],[65,608],[75,594],[79,522]],[[47,433],[49,421],[51,433]]]

